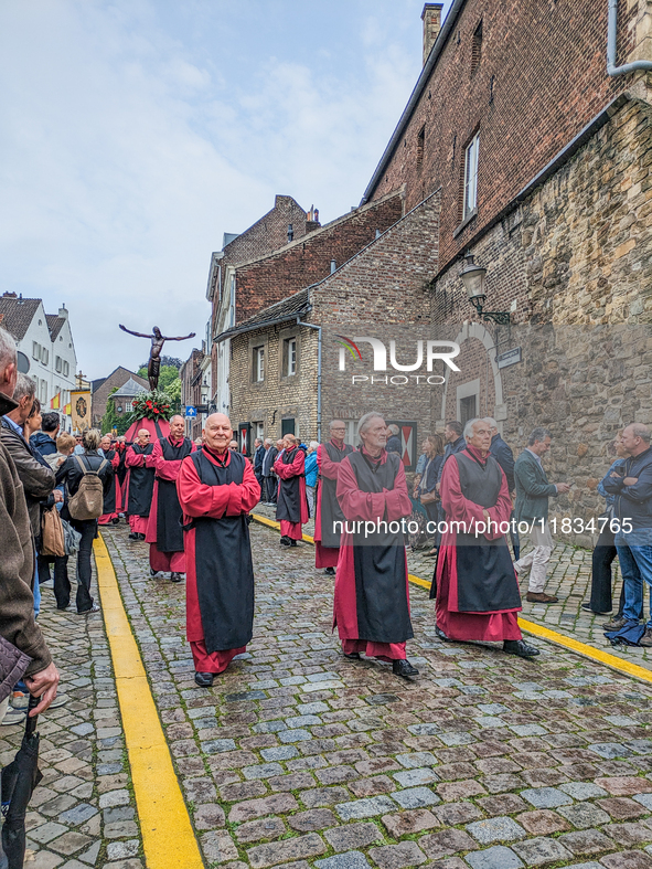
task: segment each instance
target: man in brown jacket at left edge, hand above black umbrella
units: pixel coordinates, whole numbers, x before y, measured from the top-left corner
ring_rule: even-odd
[[[0,414],[12,413],[17,384],[15,342],[0,329]],[[0,441],[0,634],[31,660],[24,677],[41,701],[30,714],[44,712],[56,697],[58,672],[34,618],[34,544],[23,485],[15,465]],[[0,703],[0,719],[9,698]]]

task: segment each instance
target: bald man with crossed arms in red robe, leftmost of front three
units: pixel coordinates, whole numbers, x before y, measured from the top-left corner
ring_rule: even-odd
[[[258,504],[260,485],[252,463],[228,448],[228,416],[209,416],[203,435],[202,448],[181,464],[177,490],[184,517],[188,640],[195,682],[210,688],[253,636],[247,513]]]

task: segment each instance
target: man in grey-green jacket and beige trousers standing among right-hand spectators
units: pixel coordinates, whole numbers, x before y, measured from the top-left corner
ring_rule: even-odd
[[[514,465],[514,516],[517,522],[527,522],[532,529],[524,536],[530,539],[532,550],[514,562],[519,574],[530,569],[528,603],[556,604],[559,600],[545,593],[546,570],[555,548],[548,526],[548,500],[570,491],[570,486],[567,483],[548,483],[542,458],[551,448],[551,442],[547,428],[534,428],[527,438],[527,447]]]

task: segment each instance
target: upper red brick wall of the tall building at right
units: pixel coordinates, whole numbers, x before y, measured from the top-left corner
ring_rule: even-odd
[[[623,59],[632,47],[630,25],[639,13],[638,0],[621,2],[620,11]],[[472,72],[473,34],[480,22],[481,59]],[[441,188],[445,267],[631,85],[632,76],[608,77],[606,46],[607,0],[468,0],[373,198],[405,184],[409,209]],[[477,131],[478,214],[455,237],[464,149]]]

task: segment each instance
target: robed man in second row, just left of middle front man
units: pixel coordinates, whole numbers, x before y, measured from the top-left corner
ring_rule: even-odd
[[[333,530],[333,523],[344,519],[338,501],[338,476],[340,463],[353,453],[353,447],[344,443],[346,424],[342,420],[332,421],[329,434],[329,443],[320,444],[317,449],[319,487],[314,517],[314,566],[325,568],[325,573],[334,575],[340,555],[340,533]]]

